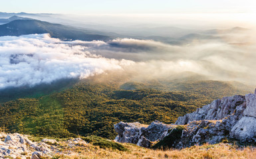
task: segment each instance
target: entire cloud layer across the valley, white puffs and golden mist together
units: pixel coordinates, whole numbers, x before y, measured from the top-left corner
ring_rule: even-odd
[[[194,72],[211,79],[253,83],[255,40],[246,35],[191,40],[174,46],[154,40],[61,41],[48,34],[0,37],[0,89],[87,78],[107,71],[132,72],[140,78]]]

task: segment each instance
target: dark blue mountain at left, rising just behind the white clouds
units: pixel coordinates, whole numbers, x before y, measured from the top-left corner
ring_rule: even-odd
[[[20,36],[22,34],[49,33],[53,38],[61,40],[103,40],[112,39],[110,36],[90,34],[88,30],[72,28],[59,24],[38,21],[35,19],[15,20],[5,25],[0,25],[0,36]]]

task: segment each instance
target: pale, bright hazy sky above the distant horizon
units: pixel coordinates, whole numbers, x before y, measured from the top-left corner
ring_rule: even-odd
[[[2,12],[66,14],[251,12],[255,0],[0,0]]]

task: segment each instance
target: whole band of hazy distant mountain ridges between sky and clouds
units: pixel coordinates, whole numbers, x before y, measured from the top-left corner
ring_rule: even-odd
[[[248,28],[239,26],[228,29],[211,30],[188,30],[174,26],[164,26],[155,28],[118,28],[116,26],[106,26],[100,28],[94,25],[70,25],[68,23],[49,23],[48,20],[39,21],[39,17],[49,17],[51,14],[30,14],[30,13],[1,13],[0,36],[19,36],[21,34],[42,34],[49,33],[53,38],[61,40],[103,40],[108,41],[113,38],[136,38],[144,40],[156,40],[173,45],[188,44],[193,40],[219,40],[227,34],[237,34],[247,32]],[[13,17],[10,17],[13,16]],[[22,17],[19,17],[22,16]],[[30,18],[25,18],[30,17]],[[60,16],[61,17],[61,16]],[[41,19],[42,20],[42,19]],[[93,26],[93,27],[92,27]],[[96,27],[96,28],[95,28]],[[120,29],[123,31],[120,31]],[[233,44],[233,43],[232,43]],[[237,44],[237,43],[234,43]],[[240,44],[240,43],[238,43]]]

